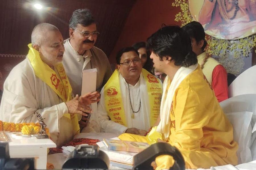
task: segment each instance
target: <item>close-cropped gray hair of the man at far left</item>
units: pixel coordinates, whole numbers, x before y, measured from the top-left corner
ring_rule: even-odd
[[[31,33],[32,45],[40,45],[45,40],[45,33],[47,31],[59,31],[59,29],[52,24],[41,23],[34,27]]]

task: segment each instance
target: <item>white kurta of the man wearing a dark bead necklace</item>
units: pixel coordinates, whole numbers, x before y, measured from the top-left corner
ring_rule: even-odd
[[[123,107],[124,112],[126,116],[127,121],[127,127],[123,126],[121,124],[118,124],[116,122],[113,122],[112,120],[109,120],[108,113],[106,111],[106,105],[105,105],[105,97],[104,97],[104,87],[101,90],[101,97],[100,102],[98,104],[98,120],[100,123],[100,130],[102,132],[109,132],[109,133],[116,133],[121,134],[126,131],[127,128],[138,128],[142,130],[148,130],[150,128],[150,108],[149,108],[149,102],[148,102],[148,94],[146,83],[143,79],[142,73],[140,75],[140,79],[135,84],[135,86],[132,86],[129,84],[130,88],[130,97],[131,97],[131,104],[134,111],[138,111],[140,100],[141,100],[141,109],[139,112],[134,113],[134,118],[132,118],[132,109],[130,106],[129,101],[129,93],[128,93],[128,84],[119,73],[119,83],[120,83],[120,90],[122,95],[122,101],[123,101]]]

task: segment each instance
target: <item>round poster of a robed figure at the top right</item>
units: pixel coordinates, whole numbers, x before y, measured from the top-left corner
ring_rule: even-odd
[[[205,32],[234,40],[255,34],[256,0],[189,0],[189,10]]]

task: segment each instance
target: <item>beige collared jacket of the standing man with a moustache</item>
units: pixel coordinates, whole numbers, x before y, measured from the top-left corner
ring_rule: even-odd
[[[73,94],[81,95],[82,71],[93,68],[97,69],[96,90],[100,91],[112,75],[106,54],[94,46],[86,50],[84,55],[79,55],[69,43],[69,39],[65,40],[64,47],[62,64],[73,88]]]

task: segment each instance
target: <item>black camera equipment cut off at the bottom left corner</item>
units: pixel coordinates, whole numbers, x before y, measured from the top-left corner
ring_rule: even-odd
[[[9,144],[0,142],[1,170],[34,170],[34,158],[10,158]]]

